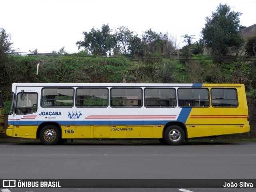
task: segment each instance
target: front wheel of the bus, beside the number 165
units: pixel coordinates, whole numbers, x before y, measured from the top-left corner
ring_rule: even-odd
[[[60,141],[60,129],[55,125],[46,125],[40,130],[39,138],[44,145],[56,145]]]

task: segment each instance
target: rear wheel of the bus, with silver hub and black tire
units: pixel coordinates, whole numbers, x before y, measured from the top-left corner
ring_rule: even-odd
[[[185,139],[184,130],[177,125],[172,125],[164,131],[164,140],[169,145],[180,145]]]

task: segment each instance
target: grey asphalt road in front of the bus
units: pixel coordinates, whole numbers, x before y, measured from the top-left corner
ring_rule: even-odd
[[[165,146],[159,142],[146,145],[122,145],[111,142],[109,144],[65,143],[60,146],[0,143],[0,179],[256,179],[255,148],[256,142],[188,143],[181,146]],[[10,190],[22,191],[15,188]],[[153,189],[152,191],[179,190]],[[190,190],[195,191],[195,189]],[[197,192],[220,190],[196,189]],[[119,190],[24,189],[23,191]],[[224,191],[255,191],[255,188],[233,188]]]

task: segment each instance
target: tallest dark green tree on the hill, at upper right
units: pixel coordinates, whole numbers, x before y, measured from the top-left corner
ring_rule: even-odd
[[[201,31],[202,40],[213,56],[227,56],[241,48],[243,39],[238,33],[242,26],[241,15],[240,12],[231,11],[230,6],[219,4],[216,12],[206,17],[205,27]]]

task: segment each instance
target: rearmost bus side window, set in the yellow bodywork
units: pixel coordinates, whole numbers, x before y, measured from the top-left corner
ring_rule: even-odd
[[[238,107],[237,91],[234,88],[212,88],[213,107]]]

